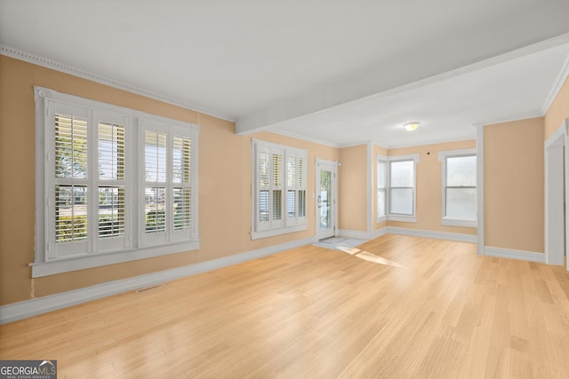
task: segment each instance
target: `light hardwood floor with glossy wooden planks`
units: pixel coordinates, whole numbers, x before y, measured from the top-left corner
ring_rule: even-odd
[[[293,249],[4,325],[0,359],[57,359],[60,378],[569,377],[563,267],[396,235],[350,253]]]

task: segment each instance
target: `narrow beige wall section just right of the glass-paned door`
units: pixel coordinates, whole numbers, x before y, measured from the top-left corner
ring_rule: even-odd
[[[340,163],[339,227],[367,232],[367,145],[341,148]]]

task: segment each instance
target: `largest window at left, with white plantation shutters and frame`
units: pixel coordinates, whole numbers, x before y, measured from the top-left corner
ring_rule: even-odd
[[[198,249],[197,134],[36,87],[33,276]]]

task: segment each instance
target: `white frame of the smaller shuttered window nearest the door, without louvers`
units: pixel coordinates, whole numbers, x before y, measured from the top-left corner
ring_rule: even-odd
[[[281,176],[280,186],[275,186],[273,181],[273,173],[270,172],[269,182],[271,183],[271,188],[268,195],[268,221],[260,221],[260,171],[259,171],[259,159],[260,153],[264,152],[272,157],[272,154],[281,154],[282,157],[282,168],[279,173]],[[296,173],[296,184],[294,186],[289,186],[287,179],[287,162],[289,157],[294,157],[296,159],[297,173]],[[299,215],[298,195],[299,191],[305,192],[304,201],[308,202],[308,150],[300,149],[291,146],[278,145],[266,141],[261,141],[259,139],[252,139],[252,230],[251,239],[258,240],[261,238],[272,237],[284,233],[295,233],[308,230],[307,214],[308,208],[307,204],[304,206],[304,216]],[[269,158],[272,159],[272,158]],[[300,161],[304,160],[304,178],[300,178]],[[270,170],[272,171],[272,164],[270,164]],[[272,206],[272,196],[273,190],[281,191],[281,218],[273,219],[273,206]],[[294,190],[297,193],[296,201],[296,217],[288,217],[288,191]]]

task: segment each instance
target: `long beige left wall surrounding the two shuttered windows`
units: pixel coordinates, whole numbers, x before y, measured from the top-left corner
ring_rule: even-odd
[[[0,67],[0,304],[228,257],[314,235],[314,198],[309,196],[307,231],[251,241],[251,139],[309,149],[309,192],[314,191],[316,157],[338,161],[339,149],[266,132],[237,136],[232,122],[5,56],[0,56]],[[34,85],[198,123],[201,249],[31,279],[28,264],[34,260],[35,249]]]

